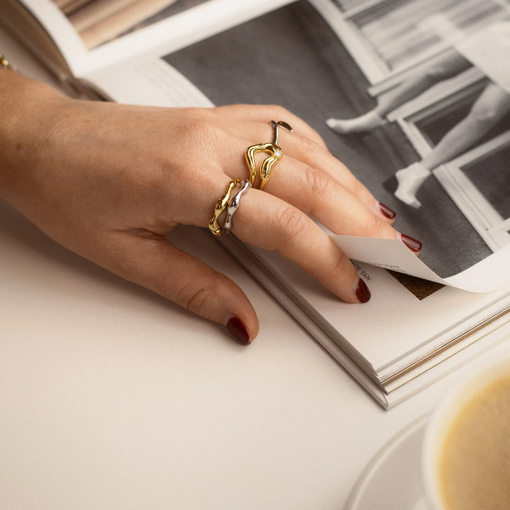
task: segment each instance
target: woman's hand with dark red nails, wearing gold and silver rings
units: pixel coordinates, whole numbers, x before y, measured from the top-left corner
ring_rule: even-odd
[[[400,238],[388,210],[283,108],[79,101],[7,71],[0,94],[0,196],[63,246],[226,325],[241,343],[259,329],[243,291],[165,236],[179,223],[207,226],[228,181],[247,178],[246,148],[271,141],[269,120],[294,132],[280,131],[284,157],[264,191],[243,195],[237,237],[277,250],[350,303],[370,293],[307,215],[338,234]]]

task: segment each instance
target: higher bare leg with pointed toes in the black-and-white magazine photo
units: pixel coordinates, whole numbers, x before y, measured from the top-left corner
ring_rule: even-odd
[[[326,124],[329,129],[341,135],[371,131],[385,124],[385,117],[391,111],[418,97],[436,83],[453,78],[469,67],[471,63],[468,60],[453,48],[449,49],[441,60],[420,69],[394,89],[382,94],[377,100],[377,106],[369,112],[353,119],[329,118]]]

